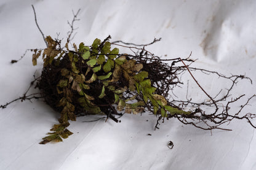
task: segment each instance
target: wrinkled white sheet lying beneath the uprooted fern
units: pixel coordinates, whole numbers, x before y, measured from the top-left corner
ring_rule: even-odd
[[[21,96],[42,68],[42,61],[32,66],[31,53],[10,64],[27,48],[45,47],[31,4],[45,35],[59,33],[65,39],[72,10],[81,9],[76,44],[91,44],[109,34],[112,41],[137,44],[162,37],[148,47],[154,54],[186,58],[193,52],[191,58],[198,59],[194,66],[252,79],[253,85],[238,83],[234,98],[245,93],[245,102],[256,93],[256,1],[2,0],[0,104]],[[197,90],[190,96],[207,99],[192,82]],[[211,77],[201,83],[209,93],[227,87]],[[253,99],[244,112],[255,113],[255,104]],[[234,121],[227,126],[233,131],[214,130],[211,135],[177,120],[161,123],[154,131],[156,118],[148,113],[124,115],[121,123],[83,123],[95,117],[79,117],[69,128],[74,134],[64,142],[39,145],[57,118],[42,101],[15,102],[1,109],[0,169],[256,169],[255,130],[246,121]],[[174,142],[172,150],[169,141]]]

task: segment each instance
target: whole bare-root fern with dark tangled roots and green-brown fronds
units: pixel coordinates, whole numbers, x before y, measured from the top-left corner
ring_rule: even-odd
[[[40,94],[27,95],[26,91],[18,99],[23,101],[43,98],[49,106],[60,113],[59,124],[50,129],[51,132],[42,138],[40,144],[63,141],[73,134],[67,129],[70,125],[69,120],[75,121],[78,116],[91,114],[106,115],[106,120],[109,118],[119,122],[117,117],[125,113],[138,114],[148,111],[157,117],[155,128],[158,128],[160,121],[164,122],[169,118],[177,118],[184,124],[206,130],[225,129],[221,125],[229,123],[234,118],[246,119],[256,128],[251,122],[252,118],[256,117],[255,114],[241,115],[242,109],[255,95],[247,99],[236,113],[229,112],[230,104],[244,96],[228,101],[231,90],[239,79],[250,80],[248,77],[226,77],[218,72],[192,68],[191,63],[194,61],[189,57],[164,60],[145,49],[147,45],[154,44],[160,39],[154,39],[150,44],[136,45],[122,41],[110,42],[111,37],[108,36],[103,41],[95,39],[92,45],[85,45],[83,42],[79,45],[70,45],[76,17],[77,14],[70,25],[71,31],[64,47],[59,39],[47,36],[46,48],[31,50],[34,66],[39,56],[42,56],[44,62],[41,76],[30,85],[38,88]],[[42,36],[44,37],[43,34]],[[119,48],[111,48],[111,45],[129,48],[132,54],[120,53]],[[166,61],[171,64],[164,63]],[[12,60],[12,63],[15,62]],[[231,86],[219,99],[212,98],[191,71],[201,71],[202,74],[206,73],[209,76],[216,74],[220,79],[230,81]],[[196,103],[191,99],[182,101],[170,98],[172,90],[182,85],[181,77],[184,72],[191,75],[209,100]],[[1,108],[5,108],[11,102],[1,105]],[[202,108],[214,111],[207,113]]]

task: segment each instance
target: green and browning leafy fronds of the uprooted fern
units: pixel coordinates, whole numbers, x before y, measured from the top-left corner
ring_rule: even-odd
[[[168,106],[166,98],[157,94],[156,87],[151,85],[143,64],[128,59],[125,54],[119,55],[118,48],[111,50],[109,41],[95,39],[91,46],[81,42],[79,48],[73,44],[74,50],[70,50],[68,44],[61,48],[60,42],[50,36],[46,41],[48,47],[42,53],[44,69],[56,68],[58,72],[55,88],[59,100],[55,109],[60,110],[61,115],[60,124],[54,125],[40,144],[61,142],[70,136],[68,121],[76,120],[78,110],[86,114],[110,115],[105,107],[114,108],[112,105],[116,104],[116,112],[128,114],[141,113],[147,106],[152,106],[153,113],[162,117],[191,114]],[[37,64],[40,55],[41,50],[34,50],[33,65]]]

